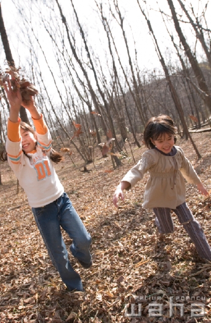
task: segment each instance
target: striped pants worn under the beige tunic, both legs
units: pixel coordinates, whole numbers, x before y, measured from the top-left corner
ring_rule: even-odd
[[[159,233],[172,233],[174,232],[174,223],[171,217],[171,208],[168,207],[155,207],[155,224]],[[196,250],[201,258],[211,261],[211,248],[206,240],[203,229],[198,221],[195,220],[193,214],[187,204],[183,204],[173,209],[178,217],[179,222],[187,231],[190,239],[194,243]]]

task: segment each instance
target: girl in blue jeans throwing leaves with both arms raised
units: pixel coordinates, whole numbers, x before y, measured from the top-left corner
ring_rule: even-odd
[[[52,161],[58,163],[63,157],[52,150],[50,132],[33,98],[26,105],[22,102],[20,91],[14,92],[9,80],[4,87],[10,102],[6,142],[9,165],[28,197],[50,259],[63,282],[70,291],[83,291],[81,278],[68,259],[61,227],[73,239],[70,250],[84,268],[92,265],[89,251],[91,237],[64,192],[52,164]],[[21,104],[30,112],[36,132],[21,122]]]

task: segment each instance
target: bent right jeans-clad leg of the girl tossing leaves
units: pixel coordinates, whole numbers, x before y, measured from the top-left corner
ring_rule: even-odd
[[[66,193],[63,194],[61,200],[58,199],[57,204],[60,225],[68,233],[69,237],[73,239],[73,243],[70,246],[73,256],[76,257],[84,267],[89,267],[92,263],[89,251],[91,244],[90,234],[86,231],[83,222]]]

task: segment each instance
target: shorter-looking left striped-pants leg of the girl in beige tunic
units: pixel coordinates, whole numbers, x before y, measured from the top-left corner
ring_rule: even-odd
[[[171,208],[168,207],[154,207],[155,224],[159,233],[172,233],[174,232],[174,223],[171,217]]]

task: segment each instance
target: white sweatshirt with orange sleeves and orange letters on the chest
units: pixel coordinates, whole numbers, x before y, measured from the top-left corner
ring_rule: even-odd
[[[33,121],[36,127],[39,120]],[[44,124],[42,118],[40,123]],[[15,124],[16,126],[14,126]],[[8,126],[10,131],[14,127],[14,129],[16,128],[20,132],[20,125],[17,128],[17,123],[12,123],[9,120]],[[38,128],[40,129],[40,124]],[[45,128],[47,129],[46,125]],[[11,138],[9,134],[8,137]],[[18,142],[11,141],[9,138],[7,138],[6,142],[8,162],[27,195],[29,205],[31,207],[41,207],[59,198],[64,193],[64,187],[55,172],[52,161],[49,159],[51,151],[51,136],[49,130],[47,129],[45,134],[39,134],[37,132],[36,150],[33,150],[32,153],[27,153],[30,158],[22,151],[22,140],[20,136]]]

